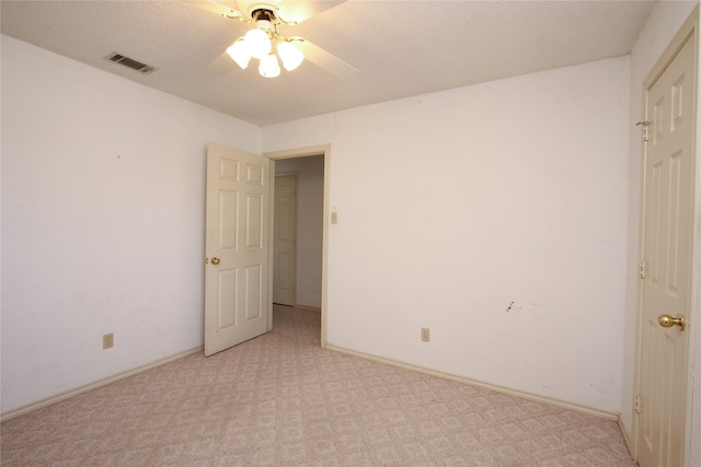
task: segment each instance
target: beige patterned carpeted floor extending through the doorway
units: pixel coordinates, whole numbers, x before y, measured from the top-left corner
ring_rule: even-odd
[[[617,423],[319,347],[317,312],[1,427],[2,466],[635,466]]]

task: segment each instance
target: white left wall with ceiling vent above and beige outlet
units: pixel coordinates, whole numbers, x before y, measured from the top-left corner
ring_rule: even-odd
[[[2,411],[203,343],[208,141],[261,130],[2,36]]]

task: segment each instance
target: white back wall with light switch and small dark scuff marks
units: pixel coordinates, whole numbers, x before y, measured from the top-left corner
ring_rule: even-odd
[[[331,143],[327,342],[618,411],[628,124],[621,57],[264,128]]]

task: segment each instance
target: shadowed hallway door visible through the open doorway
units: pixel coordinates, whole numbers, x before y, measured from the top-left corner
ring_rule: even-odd
[[[297,303],[297,175],[275,176],[273,302]]]

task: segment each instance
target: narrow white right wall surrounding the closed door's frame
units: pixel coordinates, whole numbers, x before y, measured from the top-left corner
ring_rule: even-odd
[[[687,20],[698,1],[660,1],[647,20],[631,52],[631,115],[630,130],[630,159],[629,159],[629,236],[628,236],[628,268],[627,300],[625,300],[625,326],[624,326],[624,373],[621,404],[621,419],[630,434],[633,434],[633,395],[635,389],[635,338],[637,322],[637,261],[640,256],[640,217],[641,217],[641,132],[635,127],[644,116],[643,109],[643,83],[653,67],[676,35],[679,27]],[[697,332],[698,334],[698,332]],[[697,342],[701,339],[697,338]],[[699,348],[701,350],[701,348]],[[701,360],[701,359],[698,359]],[[697,374],[697,388],[701,387],[701,374]],[[701,395],[699,395],[701,397]],[[701,420],[701,407],[697,408],[696,420]],[[696,443],[701,445],[701,433],[697,434]],[[701,465],[701,452],[697,450],[696,462],[691,465]]]

